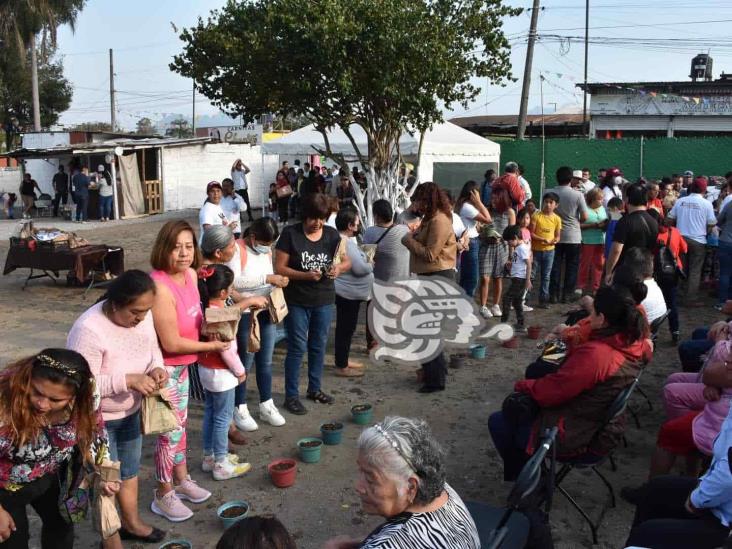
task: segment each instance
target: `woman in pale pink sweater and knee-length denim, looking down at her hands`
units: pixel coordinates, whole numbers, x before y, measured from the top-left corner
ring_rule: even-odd
[[[89,363],[102,397],[102,417],[109,453],[121,462],[122,539],[156,543],[165,532],[145,524],[137,510],[142,451],[140,401],[163,387],[168,373],[153,326],[155,283],[147,273],[127,271],[114,280],[106,296],[87,309],[71,327],[66,346]]]

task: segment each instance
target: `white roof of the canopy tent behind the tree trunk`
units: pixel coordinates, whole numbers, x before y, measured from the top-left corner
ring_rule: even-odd
[[[363,128],[352,125],[351,135],[362,154],[367,154],[366,133]],[[330,148],[334,153],[344,154],[347,160],[355,160],[356,154],[350,140],[340,128],[333,128],[328,132]],[[416,156],[419,149],[419,134],[403,133],[399,139],[403,156]],[[313,146],[325,148],[323,136],[310,124],[299,130],[287,134],[282,139],[262,144],[265,154],[309,155],[314,154]],[[490,156],[498,161],[501,147],[460,126],[445,122],[434,126],[425,133],[422,154],[455,155],[455,156]]]

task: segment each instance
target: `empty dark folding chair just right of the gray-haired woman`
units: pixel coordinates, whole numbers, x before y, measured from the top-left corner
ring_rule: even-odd
[[[483,549],[521,549],[526,545],[529,537],[529,519],[520,509],[542,484],[542,464],[547,452],[554,446],[556,436],[556,427],[547,429],[534,455],[521,469],[508,495],[506,507],[494,507],[475,501],[465,503],[478,528],[480,546]],[[551,500],[552,485],[550,479],[547,501]]]

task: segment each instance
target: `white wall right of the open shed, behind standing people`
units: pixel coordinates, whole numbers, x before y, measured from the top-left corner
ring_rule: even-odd
[[[237,158],[251,170],[247,175],[251,205],[261,208],[277,171],[277,155],[262,155],[259,146],[210,143],[166,147],[162,158],[163,209],[166,212],[200,208],[206,200],[208,182],[230,177],[231,166]]]

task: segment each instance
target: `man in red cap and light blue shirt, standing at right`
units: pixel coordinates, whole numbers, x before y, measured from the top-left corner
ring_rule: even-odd
[[[666,217],[667,223],[676,226],[689,247],[684,262],[684,270],[687,274],[687,300],[699,292],[707,234],[717,224],[714,208],[704,198],[706,192],[707,178],[696,177],[689,185],[687,196],[679,198]]]

